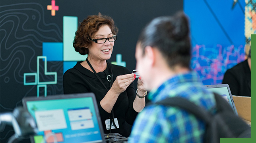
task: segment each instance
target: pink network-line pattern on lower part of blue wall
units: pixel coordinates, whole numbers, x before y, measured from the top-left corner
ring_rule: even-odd
[[[244,47],[234,45],[206,47],[196,45],[192,51],[191,68],[200,75],[204,85],[221,84],[227,69],[244,60]]]

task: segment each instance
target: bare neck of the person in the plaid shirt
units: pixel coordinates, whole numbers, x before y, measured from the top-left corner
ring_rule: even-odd
[[[156,74],[152,76],[151,89],[160,87],[167,79],[174,77],[180,73],[188,72],[188,68],[176,67],[175,70],[170,69],[169,67],[161,68],[155,71]]]

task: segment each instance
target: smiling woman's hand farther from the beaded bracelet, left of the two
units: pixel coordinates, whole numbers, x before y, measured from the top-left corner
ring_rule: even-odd
[[[120,94],[126,90],[126,88],[134,81],[135,78],[134,73],[119,75],[116,77],[111,89],[116,94]]]

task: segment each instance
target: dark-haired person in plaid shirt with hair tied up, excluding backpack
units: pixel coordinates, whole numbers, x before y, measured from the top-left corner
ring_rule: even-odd
[[[183,13],[153,19],[138,39],[135,56],[151,102],[182,97],[215,113],[213,93],[190,70],[189,25]],[[138,114],[128,143],[202,143],[205,129],[202,120],[182,109],[151,104]]]

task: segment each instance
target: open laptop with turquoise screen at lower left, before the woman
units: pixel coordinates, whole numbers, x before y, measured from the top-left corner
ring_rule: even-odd
[[[31,143],[105,143],[93,93],[25,97],[22,103],[37,123]]]

